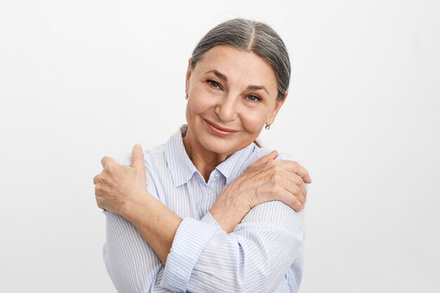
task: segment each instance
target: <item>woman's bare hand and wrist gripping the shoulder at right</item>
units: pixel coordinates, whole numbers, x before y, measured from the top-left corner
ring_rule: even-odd
[[[263,202],[278,200],[295,211],[304,209],[309,172],[297,162],[276,161],[276,157],[276,150],[261,157],[217,197],[210,212],[226,232],[232,232],[252,207]]]

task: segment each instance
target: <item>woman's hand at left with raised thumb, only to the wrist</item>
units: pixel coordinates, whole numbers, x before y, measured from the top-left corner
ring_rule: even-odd
[[[141,145],[134,145],[131,166],[121,166],[111,157],[103,157],[101,164],[103,171],[93,178],[96,203],[101,209],[124,216],[128,204],[143,202],[148,196]]]

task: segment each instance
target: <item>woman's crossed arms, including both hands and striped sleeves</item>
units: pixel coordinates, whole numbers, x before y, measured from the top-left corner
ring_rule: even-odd
[[[300,252],[303,243],[302,213],[290,207],[302,209],[304,183],[302,177],[290,174],[297,171],[310,181],[301,167],[273,161],[276,155],[252,164],[219,195],[201,221],[181,219],[147,191],[143,155],[137,147],[131,166],[104,158],[104,171],[94,182],[98,205],[112,211],[105,212],[104,254],[113,282],[119,280],[119,287],[115,282],[118,291],[148,292],[157,282],[172,291],[212,292],[219,285],[229,286],[225,291],[274,289],[297,257],[274,249]],[[282,200],[290,207],[271,200]],[[164,270],[162,263],[166,263]],[[129,280],[124,268],[138,275]],[[227,268],[226,275],[216,268]],[[123,289],[136,283],[139,286],[134,287],[143,289]]]

